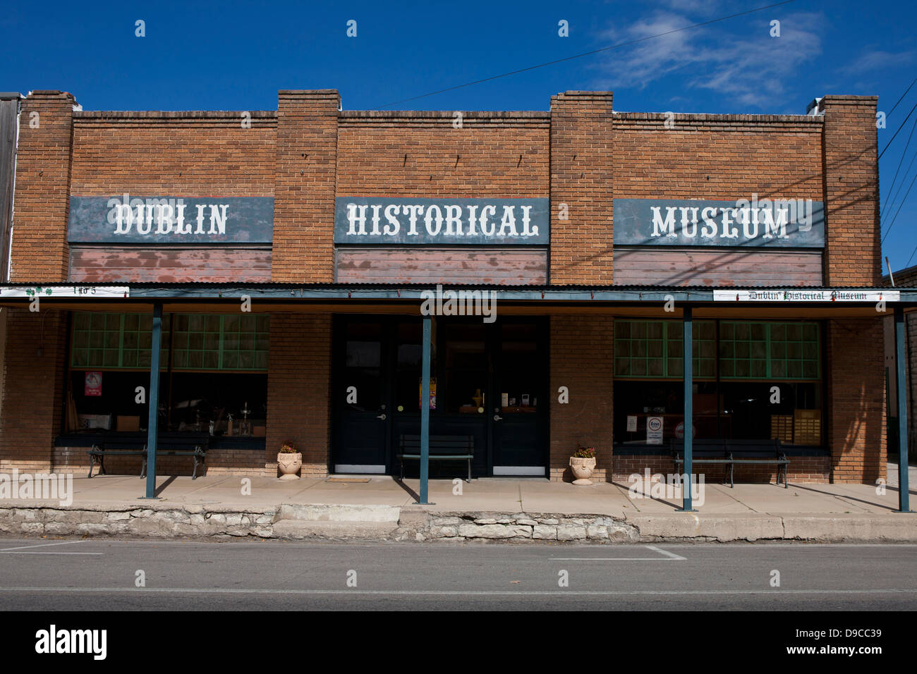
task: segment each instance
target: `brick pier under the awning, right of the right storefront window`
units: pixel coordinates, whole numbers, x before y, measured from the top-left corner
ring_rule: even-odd
[[[833,482],[886,477],[885,363],[882,322],[828,322],[828,400],[824,405]]]

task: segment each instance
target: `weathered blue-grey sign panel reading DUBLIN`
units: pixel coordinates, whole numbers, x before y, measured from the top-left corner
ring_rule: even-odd
[[[271,243],[271,196],[72,196],[71,243]]]

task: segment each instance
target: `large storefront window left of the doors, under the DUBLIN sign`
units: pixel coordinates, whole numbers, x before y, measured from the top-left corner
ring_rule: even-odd
[[[149,423],[150,314],[73,315],[64,428],[142,431]],[[160,428],[263,437],[269,315],[162,316]],[[170,349],[171,347],[171,349]]]

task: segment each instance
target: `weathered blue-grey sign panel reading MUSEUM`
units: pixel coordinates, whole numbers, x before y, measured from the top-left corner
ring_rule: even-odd
[[[812,199],[615,199],[615,246],[824,248]]]

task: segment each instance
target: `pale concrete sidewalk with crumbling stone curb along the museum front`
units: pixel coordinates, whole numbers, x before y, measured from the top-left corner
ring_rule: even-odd
[[[145,484],[136,476],[78,477],[67,507],[3,500],[0,531],[398,540],[917,541],[917,515],[896,512],[897,489],[889,486],[878,494],[876,487],[864,484],[793,484],[789,489],[736,484],[733,489],[707,483],[703,498],[695,498],[694,513],[679,511],[678,489],[658,498],[632,498],[628,484],[607,482],[574,486],[489,478],[461,482],[455,493],[458,486],[452,481],[430,481],[433,503],[425,506],[414,504],[418,481],[381,476],[298,481],[161,477],[160,500],[138,500]],[[911,493],[917,493],[915,488]]]

